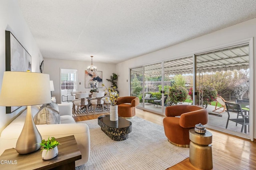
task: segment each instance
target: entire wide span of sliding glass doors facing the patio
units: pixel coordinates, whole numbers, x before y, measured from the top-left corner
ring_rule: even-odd
[[[130,95],[140,98],[138,108],[161,115],[171,105],[202,106],[209,113],[206,127],[253,140],[252,49],[250,39],[194,56],[131,68]],[[240,112],[247,115],[246,128],[229,120],[242,117],[237,113],[229,116],[225,102],[241,107]]]

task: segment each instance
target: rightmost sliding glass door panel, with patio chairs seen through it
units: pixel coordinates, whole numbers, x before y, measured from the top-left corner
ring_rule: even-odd
[[[212,129],[249,138],[249,126],[242,132],[243,117],[229,111],[225,102],[238,104],[243,114],[249,114],[249,45],[242,44],[208,53],[196,58],[196,104],[208,110]],[[239,113],[240,114],[240,113]],[[249,122],[249,118],[245,117]]]

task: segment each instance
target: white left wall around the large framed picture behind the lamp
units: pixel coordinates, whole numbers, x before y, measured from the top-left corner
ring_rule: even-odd
[[[16,0],[0,1],[0,89],[5,71],[5,31],[11,31],[32,57],[32,72],[39,72],[42,55],[26,24]],[[0,133],[18,113],[6,114],[4,106],[0,106]]]

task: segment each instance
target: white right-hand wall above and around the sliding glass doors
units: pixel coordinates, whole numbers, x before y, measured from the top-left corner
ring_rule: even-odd
[[[195,53],[202,52],[204,50],[234,43],[254,37],[254,56],[256,56],[256,18],[245,21],[243,23],[221,29],[219,31],[162,49],[153,53],[137,57],[116,65],[116,72],[120,75],[118,80],[118,89],[120,96],[129,95],[129,68],[134,66],[140,66],[143,64],[155,63],[156,61],[165,61],[181,56],[192,56]],[[256,60],[254,67],[256,66]],[[250,68],[251,69],[251,68]],[[256,83],[256,69],[254,70],[254,84]],[[254,86],[255,87],[255,86]],[[255,96],[255,95],[254,95]],[[254,108],[256,106],[256,96],[254,97]],[[256,137],[256,116],[254,116],[254,138]]]

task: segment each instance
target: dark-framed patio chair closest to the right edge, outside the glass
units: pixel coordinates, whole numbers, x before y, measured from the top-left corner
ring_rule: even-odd
[[[225,105],[226,105],[226,109],[228,111],[228,120],[227,120],[227,124],[226,124],[226,129],[228,128],[228,122],[234,121],[234,122],[236,122],[236,126],[237,126],[237,123],[242,125],[241,133],[243,132],[243,130],[244,130],[244,133],[246,133],[246,125],[249,125],[249,116],[244,115],[244,111],[242,110],[242,108],[239,104],[225,102]],[[231,112],[237,113],[239,116],[242,116],[242,118],[230,119]]]

